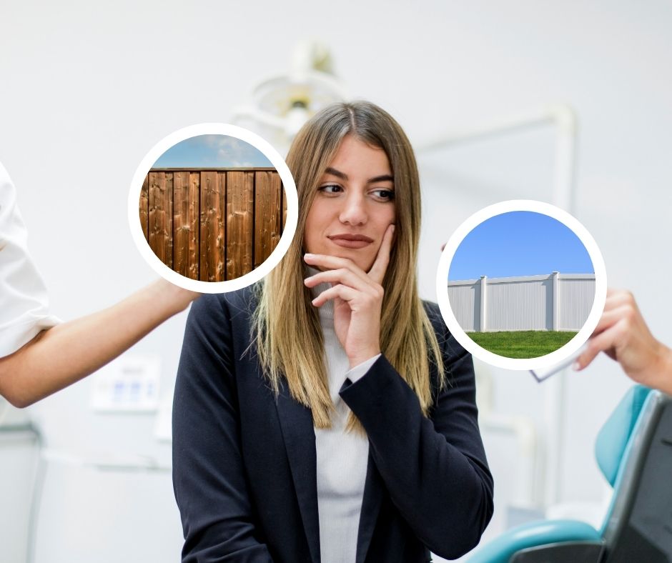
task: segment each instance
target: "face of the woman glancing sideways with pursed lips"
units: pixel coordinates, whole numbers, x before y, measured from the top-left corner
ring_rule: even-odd
[[[394,181],[385,151],[343,139],[317,184],[304,236],[310,254],[349,258],[369,271],[395,222]]]

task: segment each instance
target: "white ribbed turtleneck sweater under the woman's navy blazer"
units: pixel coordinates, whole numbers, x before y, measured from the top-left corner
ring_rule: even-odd
[[[318,272],[313,268],[308,271],[310,275]],[[312,289],[312,294],[317,297],[330,287],[331,284],[320,284]],[[369,442],[365,436],[345,432],[350,409],[338,392],[346,378],[354,383],[363,377],[380,354],[348,369],[350,362],[334,330],[332,301],[320,307],[320,326],[325,340],[329,391],[335,407],[331,428],[315,429],[320,557],[322,563],[355,563]]]

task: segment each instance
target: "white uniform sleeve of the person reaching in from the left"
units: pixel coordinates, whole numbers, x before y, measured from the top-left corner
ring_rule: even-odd
[[[0,357],[59,322],[49,314],[44,281],[28,252],[14,184],[0,164]]]

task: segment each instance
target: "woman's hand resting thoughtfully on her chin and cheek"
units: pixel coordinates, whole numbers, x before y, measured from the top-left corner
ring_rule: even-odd
[[[347,258],[325,254],[306,254],[304,257],[310,266],[326,270],[305,279],[307,287],[325,282],[332,284],[330,289],[313,299],[312,304],[321,307],[330,299],[334,301],[334,328],[350,360],[350,368],[380,354],[382,280],[390,263],[394,230],[394,225],[387,227],[368,272]]]

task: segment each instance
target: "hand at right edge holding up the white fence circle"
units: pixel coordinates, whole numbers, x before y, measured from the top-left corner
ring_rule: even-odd
[[[630,292],[608,289],[602,317],[574,369],[585,368],[602,351],[634,381],[672,392],[672,351],[653,337]]]

